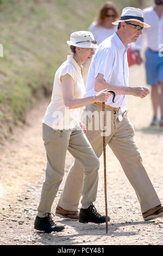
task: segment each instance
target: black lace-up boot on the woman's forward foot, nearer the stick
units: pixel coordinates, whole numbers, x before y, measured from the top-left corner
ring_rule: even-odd
[[[91,204],[87,209],[80,208],[79,222],[104,223],[105,221],[105,215],[102,216],[101,214],[99,214],[99,212],[96,210],[93,204]],[[110,221],[110,217],[108,217],[108,221]]]

